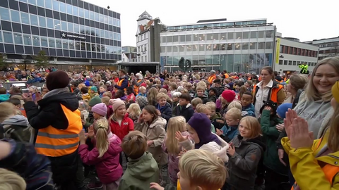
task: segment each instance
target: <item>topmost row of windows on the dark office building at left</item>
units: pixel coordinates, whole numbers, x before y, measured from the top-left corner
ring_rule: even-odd
[[[7,0],[2,0],[7,1]],[[93,6],[93,4],[85,3],[84,5],[87,6],[84,7],[84,5],[81,5],[83,3],[82,1],[78,1],[80,4],[79,6],[73,6],[71,4],[66,4],[61,1],[57,0],[9,0],[9,8],[16,9],[18,7],[18,1],[21,1],[25,4],[32,4],[37,7],[41,8],[47,8],[53,11],[58,11],[61,13],[67,13],[69,15],[76,15],[81,18],[87,18],[90,20],[95,20],[100,23],[105,24],[112,24],[115,20],[118,26],[120,26],[120,14],[115,13],[114,11],[109,11],[105,8],[99,8],[97,6]],[[19,3],[20,4],[20,3]],[[94,9],[97,9],[95,11]]]

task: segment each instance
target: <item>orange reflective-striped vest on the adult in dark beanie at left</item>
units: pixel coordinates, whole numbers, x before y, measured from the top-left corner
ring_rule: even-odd
[[[80,110],[71,111],[61,105],[64,114],[69,121],[69,127],[61,130],[52,126],[39,129],[35,150],[44,156],[59,157],[74,153],[79,146],[79,134],[83,129]]]

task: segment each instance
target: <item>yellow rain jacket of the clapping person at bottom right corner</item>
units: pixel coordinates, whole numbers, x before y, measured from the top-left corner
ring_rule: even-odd
[[[320,156],[327,146],[328,132],[314,140],[312,148],[292,148],[288,137],[281,139],[290,160],[290,167],[300,190],[339,189],[339,152]],[[295,189],[296,184],[292,187]]]

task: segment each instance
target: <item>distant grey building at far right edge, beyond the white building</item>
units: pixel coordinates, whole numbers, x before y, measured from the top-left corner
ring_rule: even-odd
[[[331,37],[326,39],[314,39],[307,44],[319,46],[318,60],[328,57],[339,56],[339,37]]]

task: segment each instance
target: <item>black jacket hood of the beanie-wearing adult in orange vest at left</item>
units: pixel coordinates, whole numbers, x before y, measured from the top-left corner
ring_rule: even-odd
[[[47,107],[50,103],[61,103],[66,108],[71,111],[75,111],[79,107],[78,99],[76,98],[76,94],[71,92],[65,92],[61,94],[54,94],[52,96],[47,97],[46,99],[42,99],[38,101],[40,107]]]

